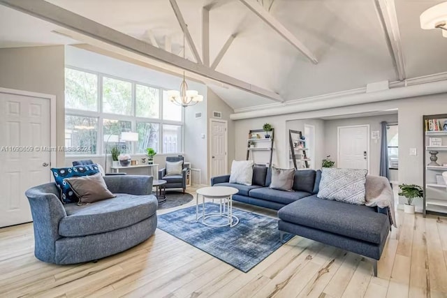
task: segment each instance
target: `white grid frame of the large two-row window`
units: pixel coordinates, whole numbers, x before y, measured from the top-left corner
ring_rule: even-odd
[[[125,79],[123,77],[117,77],[116,75],[109,75],[107,73],[100,73],[92,70],[86,70],[83,68],[78,68],[75,66],[69,66],[66,65],[65,68],[70,68],[73,70],[82,71],[85,73],[91,73],[93,75],[96,75],[98,77],[98,111],[89,111],[89,110],[78,110],[73,108],[65,108],[64,111],[64,118],[65,115],[73,115],[73,116],[80,116],[80,117],[93,117],[98,119],[98,135],[97,140],[98,144],[96,144],[96,154],[89,154],[89,155],[70,155],[70,158],[78,158],[78,157],[97,157],[97,156],[104,156],[103,153],[104,150],[104,141],[103,141],[103,120],[104,119],[114,119],[119,121],[131,121],[131,131],[136,131],[137,128],[137,122],[151,122],[159,124],[160,130],[159,130],[159,148],[156,149],[158,155],[164,155],[166,153],[163,152],[163,124],[170,124],[170,125],[177,125],[181,126],[181,134],[182,134],[182,140],[180,144],[180,151],[181,152],[175,152],[175,153],[168,153],[168,155],[173,154],[184,154],[184,109],[182,110],[182,120],[181,121],[173,121],[173,120],[164,120],[163,119],[163,91],[168,91],[168,89],[163,87],[158,87],[152,84],[147,84],[144,82],[139,82],[135,80],[129,80]],[[110,77],[111,79],[115,80],[121,80],[124,82],[130,82],[131,83],[131,97],[132,97],[132,115],[124,115],[124,114],[112,114],[112,113],[105,113],[103,112],[103,77]],[[65,83],[64,83],[65,84]],[[159,89],[159,118],[146,118],[146,117],[137,117],[136,116],[136,85],[141,85],[145,87],[150,87],[154,89]],[[102,142],[101,142],[102,140]],[[137,153],[137,145],[132,144],[131,146],[131,154],[139,154],[143,155],[142,153]]]

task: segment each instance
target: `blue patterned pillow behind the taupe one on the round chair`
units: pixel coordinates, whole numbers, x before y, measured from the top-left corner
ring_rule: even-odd
[[[61,201],[62,203],[67,204],[78,202],[78,197],[64,179],[94,175],[99,172],[99,168],[98,165],[95,164],[76,165],[74,167],[52,167],[51,172],[53,173],[57,187],[61,191]]]

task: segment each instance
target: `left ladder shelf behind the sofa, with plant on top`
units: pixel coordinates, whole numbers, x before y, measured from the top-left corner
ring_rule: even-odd
[[[267,167],[271,167],[272,166],[272,158],[273,158],[273,144],[274,144],[274,128],[272,128],[272,131],[269,131],[268,134],[270,135],[270,137],[261,137],[261,133],[265,133],[265,131],[263,131],[263,129],[252,129],[251,131],[249,131],[249,135],[247,138],[247,158],[246,160],[249,161],[250,157],[251,160],[255,161],[255,155],[256,158],[263,158],[265,157],[265,153],[262,154],[261,152],[267,152],[270,154],[268,154],[269,156],[267,156],[268,158],[268,162],[255,162],[256,165],[265,165]],[[253,137],[253,135],[258,135],[258,137]],[[258,155],[255,154],[255,152],[258,152]]]

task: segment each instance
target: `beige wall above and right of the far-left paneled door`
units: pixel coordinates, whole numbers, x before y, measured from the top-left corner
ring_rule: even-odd
[[[64,45],[0,49],[0,87],[56,96],[56,144],[64,146]],[[57,166],[64,165],[57,152]]]

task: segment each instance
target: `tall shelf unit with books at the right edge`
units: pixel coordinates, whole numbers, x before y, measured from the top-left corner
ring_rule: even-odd
[[[441,177],[447,172],[447,114],[425,115],[423,117],[423,215],[427,212],[447,214],[447,186]],[[430,151],[437,160],[431,160]],[[433,159],[436,159],[433,158]]]

